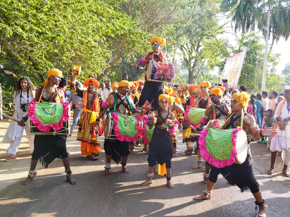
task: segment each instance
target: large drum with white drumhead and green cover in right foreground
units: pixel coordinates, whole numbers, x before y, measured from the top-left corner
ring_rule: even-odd
[[[208,128],[198,139],[202,157],[217,168],[243,163],[248,153],[247,135],[242,128],[219,130]]]

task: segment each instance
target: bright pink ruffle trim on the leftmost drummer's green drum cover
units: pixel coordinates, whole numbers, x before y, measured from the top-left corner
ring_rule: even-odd
[[[50,128],[54,130],[60,130],[61,128],[63,128],[62,122],[67,121],[70,117],[68,115],[68,102],[61,102],[61,104],[63,108],[62,117],[57,124],[44,125],[39,121],[39,119],[35,116],[35,100],[32,100],[29,103],[28,116],[32,123],[37,127],[37,129],[41,130],[42,132],[49,132]]]

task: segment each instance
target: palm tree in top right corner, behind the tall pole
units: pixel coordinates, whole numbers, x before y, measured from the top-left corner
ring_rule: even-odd
[[[259,10],[263,14],[262,19],[258,22],[258,28],[263,32],[265,36],[266,31],[264,29],[267,26],[267,12],[270,5],[270,28],[269,32],[272,34],[272,43],[269,52],[271,52],[274,42],[278,43],[280,37],[284,38],[285,41],[290,35],[290,4],[289,0],[259,0],[261,3]]]

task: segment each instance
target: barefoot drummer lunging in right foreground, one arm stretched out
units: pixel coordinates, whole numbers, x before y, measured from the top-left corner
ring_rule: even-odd
[[[246,113],[245,107],[250,100],[249,95],[242,91],[241,93],[234,93],[231,99],[231,111],[232,115],[229,115],[229,120],[222,127],[222,129],[234,129],[241,126],[241,115],[244,113],[244,119],[242,124],[242,129],[246,132],[248,144],[251,142],[252,136],[255,139],[260,139],[264,136],[275,136],[278,132],[271,129],[270,127],[265,128],[263,131],[259,132],[255,118],[252,115]],[[260,191],[260,185],[256,181],[253,174],[253,160],[248,150],[247,158],[242,164],[233,163],[230,166],[225,166],[223,168],[217,168],[211,166],[211,172],[209,174],[209,181],[207,183],[206,190],[204,194],[196,196],[195,200],[211,199],[213,187],[218,179],[218,175],[221,173],[224,178],[231,184],[237,185],[241,192],[250,189],[253,196],[255,197],[256,207],[259,207],[259,212],[256,216],[266,216],[265,202],[262,198],[262,193]]]

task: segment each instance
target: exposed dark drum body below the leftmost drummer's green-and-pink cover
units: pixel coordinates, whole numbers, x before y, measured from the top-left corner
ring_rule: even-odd
[[[28,132],[30,135],[59,135],[59,134],[70,134],[70,118],[67,121],[62,122],[63,128],[60,130],[50,129],[48,132],[39,130],[32,120],[28,117]]]

